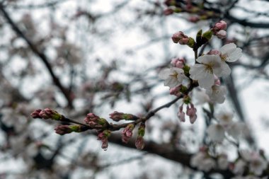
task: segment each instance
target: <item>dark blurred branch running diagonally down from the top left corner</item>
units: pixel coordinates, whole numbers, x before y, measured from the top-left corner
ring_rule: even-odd
[[[72,99],[70,96],[69,91],[64,88],[64,86],[62,85],[61,81],[59,81],[58,77],[55,75],[54,71],[52,70],[52,66],[50,65],[50,63],[47,60],[47,57],[45,56],[44,53],[40,52],[38,50],[37,47],[35,47],[35,45],[33,44],[33,42],[31,42],[28,37],[26,37],[23,32],[18,28],[18,26],[13,22],[13,20],[11,19],[11,17],[8,15],[8,13],[6,12],[3,4],[0,4],[0,11],[3,13],[4,18],[6,18],[6,21],[11,25],[11,27],[13,28],[13,30],[16,32],[16,34],[19,37],[22,37],[23,40],[25,40],[25,42],[27,42],[27,44],[29,45],[30,49],[38,56],[40,57],[40,59],[42,59],[42,62],[44,62],[45,66],[47,67],[47,70],[50,73],[50,76],[52,77],[52,81],[55,83],[55,85],[59,88],[60,91],[62,91],[62,93],[64,94],[65,98],[68,101],[68,107],[69,108],[73,108],[73,104],[72,104]]]

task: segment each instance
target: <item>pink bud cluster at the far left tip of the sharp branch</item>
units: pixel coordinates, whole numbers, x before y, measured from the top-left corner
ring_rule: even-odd
[[[44,120],[51,119],[51,120],[64,120],[64,115],[59,114],[56,110],[52,110],[50,108],[45,108],[44,110],[35,110],[32,112],[31,117],[33,118],[41,118]]]

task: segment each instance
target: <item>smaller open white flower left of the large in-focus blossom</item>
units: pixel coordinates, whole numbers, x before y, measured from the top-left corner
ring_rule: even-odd
[[[159,74],[159,77],[164,79],[164,86],[169,86],[170,88],[181,85],[184,79],[188,80],[187,76],[184,74],[183,69],[176,67],[172,67],[171,69],[164,69]]]

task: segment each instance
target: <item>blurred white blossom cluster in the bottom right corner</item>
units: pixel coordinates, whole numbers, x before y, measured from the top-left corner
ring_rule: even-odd
[[[201,147],[200,151],[190,159],[190,166],[205,172],[212,169],[229,169],[236,175],[233,179],[258,179],[258,176],[262,175],[263,171],[268,168],[268,162],[263,156],[263,152],[242,150],[239,152],[239,157],[236,161],[231,163],[228,161],[226,154],[212,157],[207,148]]]

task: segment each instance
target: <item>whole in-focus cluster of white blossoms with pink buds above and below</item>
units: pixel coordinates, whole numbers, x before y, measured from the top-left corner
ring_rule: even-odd
[[[205,45],[211,39],[212,35],[224,38],[226,37],[227,23],[220,21],[213,28],[202,33],[198,31],[196,42],[192,37],[188,37],[183,32],[174,33],[172,40],[181,45],[188,45],[196,53],[198,48]],[[224,103],[227,88],[222,86],[219,78],[229,76],[231,69],[227,63],[235,62],[242,55],[242,50],[236,47],[234,43],[224,45],[219,50],[210,50],[207,54],[196,57],[195,64],[188,65],[185,59],[175,58],[171,60],[171,67],[163,69],[159,76],[164,80],[164,86],[170,88],[170,94],[175,96],[187,96],[190,88],[199,86],[205,89],[205,93],[210,98],[210,103]],[[185,98],[185,97],[184,97]],[[186,113],[190,117],[190,122],[195,122],[196,108],[191,100],[183,100],[187,105]],[[178,117],[185,122],[185,112],[183,104],[179,108]]]

